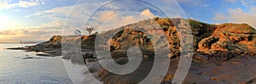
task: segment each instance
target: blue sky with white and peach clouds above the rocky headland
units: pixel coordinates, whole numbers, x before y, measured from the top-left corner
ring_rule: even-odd
[[[153,17],[256,28],[255,0],[0,0],[0,42],[44,42],[95,27],[98,32]]]

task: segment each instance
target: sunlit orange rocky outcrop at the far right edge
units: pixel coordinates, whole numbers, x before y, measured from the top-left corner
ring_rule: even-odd
[[[197,51],[214,53],[216,51],[236,53],[256,53],[256,31],[246,24],[217,25],[211,36],[199,42]]]

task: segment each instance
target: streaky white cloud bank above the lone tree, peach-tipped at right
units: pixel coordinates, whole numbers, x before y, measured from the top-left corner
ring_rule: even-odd
[[[64,31],[64,33],[68,33],[67,35],[70,35],[70,34],[73,34],[73,32],[70,32],[70,31],[78,30],[78,29],[84,30],[83,26],[85,21],[89,18],[90,14],[95,11],[96,8],[101,6],[100,4],[102,3],[79,3],[75,5],[75,7],[63,6],[58,8],[52,8],[52,9],[44,10],[35,14],[26,15],[26,18],[42,17],[45,20],[49,20],[49,23],[40,25],[41,27],[62,28],[64,25],[66,25],[65,31],[67,32]],[[130,14],[130,15],[122,14],[116,17],[112,17],[113,15],[119,14],[121,12],[119,11],[119,8],[125,8],[125,7],[114,6],[113,8],[113,4],[108,4],[108,5],[105,5],[103,9],[98,9],[98,11],[91,16],[90,19],[92,20],[90,20],[90,24],[88,26],[100,26],[105,20],[108,20],[109,18],[113,18],[113,19],[110,19],[111,22],[108,22],[108,24],[109,24],[109,27],[115,28],[117,26],[119,27],[120,25],[126,25],[129,23],[134,23],[139,20],[144,20],[145,16],[148,16],[149,18],[152,18],[155,16],[148,8],[144,8],[143,11],[137,12],[137,14]],[[67,16],[68,16],[68,19],[67,19]],[[118,25],[116,23],[120,23],[120,24]],[[104,30],[103,29],[98,29],[98,30],[96,29],[96,30],[107,31],[105,29],[107,28],[104,28]],[[87,33],[84,32],[84,34],[87,34]]]

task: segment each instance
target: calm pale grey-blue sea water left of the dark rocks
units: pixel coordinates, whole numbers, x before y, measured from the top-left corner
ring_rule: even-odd
[[[28,45],[32,44],[0,43],[0,84],[73,83],[61,56],[40,57],[34,52],[4,49]],[[26,59],[27,57],[33,57],[33,59]],[[78,67],[72,63],[69,66]]]

